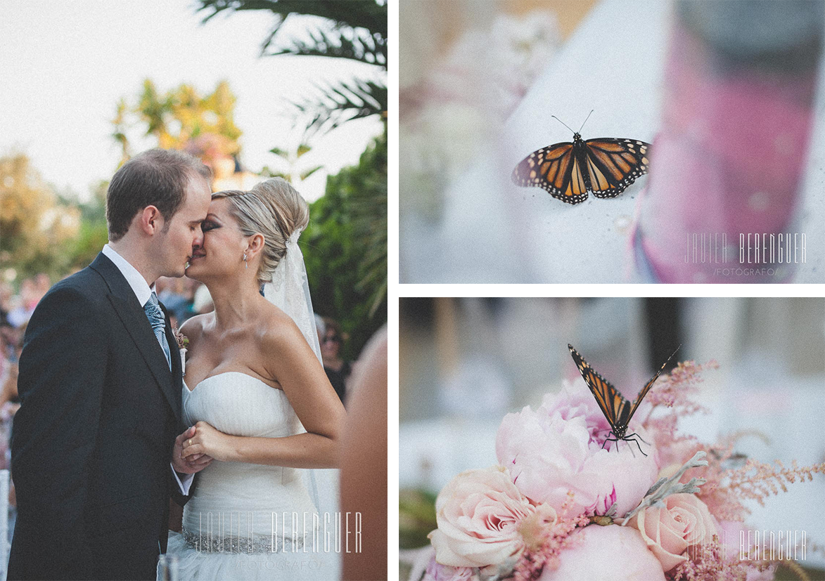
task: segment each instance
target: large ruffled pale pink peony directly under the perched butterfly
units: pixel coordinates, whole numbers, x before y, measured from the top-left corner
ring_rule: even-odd
[[[610,424],[583,380],[544,396],[538,410],[529,406],[502,420],[496,436],[498,462],[506,466],[519,490],[535,504],[560,510],[568,490],[575,494],[572,513],[604,514],[614,502],[617,515],[636,508],[656,480],[652,445],[607,443]],[[629,433],[652,442],[638,424]]]

